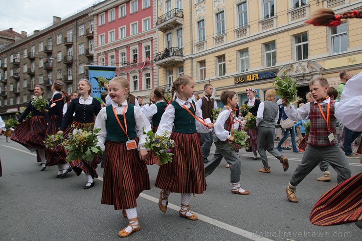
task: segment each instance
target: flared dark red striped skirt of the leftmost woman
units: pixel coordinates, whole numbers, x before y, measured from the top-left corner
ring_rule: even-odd
[[[32,116],[24,120],[10,137],[30,151],[45,149],[46,123],[44,116]]]

